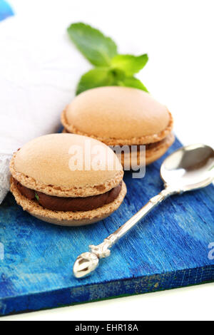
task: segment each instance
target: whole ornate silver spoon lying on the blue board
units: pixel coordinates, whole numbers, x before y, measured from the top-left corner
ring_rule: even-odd
[[[203,144],[188,145],[176,150],[163,161],[161,178],[164,190],[152,197],[136,215],[106,237],[101,244],[90,245],[90,252],[84,252],[77,257],[73,265],[76,278],[93,272],[98,267],[99,259],[110,256],[109,248],[167,197],[208,186],[214,179],[214,150]]]

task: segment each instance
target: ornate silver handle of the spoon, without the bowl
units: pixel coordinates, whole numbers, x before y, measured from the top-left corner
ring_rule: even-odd
[[[143,217],[145,217],[148,212],[150,212],[153,207],[156,207],[160,202],[165,200],[170,195],[173,195],[179,191],[165,187],[158,195],[152,197],[151,200],[147,202],[145,206],[141,208],[131,219],[129,219],[124,225],[122,225],[116,232],[109,235],[104,239],[101,244],[89,245],[90,252],[84,252],[80,254],[76,262],[73,265],[73,274],[76,278],[86,277],[93,270],[98,267],[99,259],[110,256],[111,251],[109,248],[115,244],[118,239],[123,237],[124,234],[129,232],[132,227],[134,227]]]

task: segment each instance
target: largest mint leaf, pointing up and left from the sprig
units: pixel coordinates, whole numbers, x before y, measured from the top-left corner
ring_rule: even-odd
[[[71,24],[67,31],[78,50],[95,66],[109,66],[117,54],[116,43],[88,24]]]

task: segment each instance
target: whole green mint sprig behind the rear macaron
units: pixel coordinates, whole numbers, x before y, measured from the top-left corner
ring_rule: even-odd
[[[95,66],[81,76],[76,95],[100,86],[128,86],[148,92],[146,86],[134,77],[146,65],[147,54],[118,54],[116,43],[88,24],[71,24],[67,31],[78,50]]]

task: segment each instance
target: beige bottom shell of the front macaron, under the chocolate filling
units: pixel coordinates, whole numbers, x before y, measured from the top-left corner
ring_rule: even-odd
[[[26,210],[42,221],[53,223],[54,225],[80,226],[103,220],[117,210],[126,195],[126,185],[125,182],[122,182],[121,192],[113,202],[98,207],[96,210],[88,210],[86,212],[60,212],[47,210],[44,207],[41,207],[38,202],[29,200],[24,197],[24,195],[21,195],[13,181],[11,182],[11,192],[13,193],[16,202],[21,205],[23,210]]]

